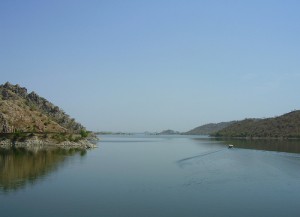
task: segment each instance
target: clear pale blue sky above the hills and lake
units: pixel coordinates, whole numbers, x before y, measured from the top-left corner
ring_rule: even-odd
[[[300,108],[298,0],[1,0],[0,83],[89,130],[188,131]]]

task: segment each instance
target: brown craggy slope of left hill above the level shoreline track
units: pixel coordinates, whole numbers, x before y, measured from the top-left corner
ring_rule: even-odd
[[[67,132],[85,128],[63,110],[19,85],[0,85],[0,133]]]

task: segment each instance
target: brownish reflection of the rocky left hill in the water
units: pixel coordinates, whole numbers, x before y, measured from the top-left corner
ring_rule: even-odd
[[[0,192],[18,190],[27,184],[34,184],[64,165],[70,156],[77,153],[84,155],[86,152],[76,149],[0,149]]]

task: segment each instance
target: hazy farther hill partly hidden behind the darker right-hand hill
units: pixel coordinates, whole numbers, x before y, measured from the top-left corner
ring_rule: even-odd
[[[205,124],[200,127],[196,127],[184,134],[186,135],[210,135],[212,133],[215,133],[219,130],[224,129],[225,127],[228,127],[229,125],[235,123],[235,121],[231,122],[221,122],[217,124]]]

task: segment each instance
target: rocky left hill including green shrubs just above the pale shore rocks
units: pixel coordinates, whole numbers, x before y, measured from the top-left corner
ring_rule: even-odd
[[[36,93],[19,85],[0,85],[0,139],[22,142],[36,137],[61,143],[78,142],[90,132]]]

